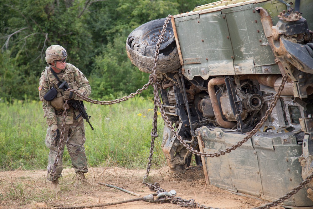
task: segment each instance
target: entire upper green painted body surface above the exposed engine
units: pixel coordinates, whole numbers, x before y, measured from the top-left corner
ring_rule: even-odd
[[[295,0],[286,1],[295,6]],[[286,5],[278,0],[230,8],[217,7],[174,16],[184,76],[280,74],[255,7],[269,11],[276,25]],[[301,0],[300,12],[313,27],[312,1]]]

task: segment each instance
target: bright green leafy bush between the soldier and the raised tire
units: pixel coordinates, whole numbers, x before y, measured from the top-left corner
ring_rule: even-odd
[[[147,73],[139,71],[129,62],[124,42],[122,37],[115,38],[114,43],[107,44],[103,53],[95,57],[95,68],[89,77],[92,86],[97,86],[92,89],[93,98],[114,99],[124,93],[128,95],[149,80]],[[149,89],[150,91],[144,91],[143,94],[153,95],[152,87]]]

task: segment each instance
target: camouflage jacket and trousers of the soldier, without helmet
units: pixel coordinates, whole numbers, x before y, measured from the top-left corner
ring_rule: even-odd
[[[46,71],[46,72],[45,72]],[[48,78],[46,78],[45,74]],[[59,80],[61,81],[67,81],[70,88],[73,88],[77,90],[80,94],[88,97],[91,93],[91,87],[89,85],[89,82],[87,78],[83,75],[82,72],[78,68],[76,68],[74,65],[71,65],[69,63],[66,63],[65,69],[61,71],[59,74],[57,74],[59,77]],[[39,79],[39,98],[43,102],[43,109],[45,112],[45,116],[47,116],[47,135],[45,138],[46,146],[50,149],[49,152],[49,164],[48,164],[48,172],[51,170],[51,167],[54,163],[54,160],[57,155],[58,147],[59,147],[59,141],[57,141],[57,144],[55,144],[52,131],[54,129],[59,129],[61,132],[62,127],[62,120],[63,116],[62,113],[64,110],[59,107],[54,107],[51,102],[48,102],[44,100],[44,95],[49,91],[49,84],[50,88],[55,87],[58,91],[57,97],[52,100],[51,102],[55,100],[62,100],[63,92],[64,90],[59,89],[59,82],[54,75],[52,74],[50,66],[47,66],[45,70],[42,72],[41,77]],[[75,100],[82,100],[77,95],[75,95]],[[73,108],[67,109],[68,116],[65,118],[66,125],[64,125],[65,133],[64,133],[64,143],[62,147],[62,152],[60,156],[60,161],[58,163],[58,166],[56,168],[56,175],[48,175],[47,179],[52,181],[55,179],[58,179],[59,177],[62,177],[62,156],[64,151],[64,146],[66,144],[66,147],[69,151],[69,155],[72,160],[72,165],[75,169],[75,172],[83,172],[87,173],[87,159],[85,154],[85,127],[84,127],[84,121],[83,118],[80,117],[78,120],[74,120],[76,116],[79,114],[78,110],[74,110]],[[65,143],[66,142],[66,143]]]

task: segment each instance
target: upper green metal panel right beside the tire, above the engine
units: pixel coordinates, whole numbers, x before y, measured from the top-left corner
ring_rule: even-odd
[[[220,11],[175,18],[184,76],[234,75],[226,18]],[[187,32],[188,31],[188,32]]]

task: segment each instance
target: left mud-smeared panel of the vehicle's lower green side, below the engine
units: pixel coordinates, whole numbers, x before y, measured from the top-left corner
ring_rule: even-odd
[[[225,133],[216,128],[210,131],[202,127],[204,152],[225,150],[244,138],[244,135]],[[220,157],[206,158],[210,184],[230,191],[238,191],[254,196],[263,194],[257,155],[251,141],[244,143],[236,151]]]

